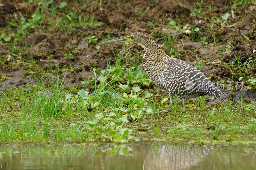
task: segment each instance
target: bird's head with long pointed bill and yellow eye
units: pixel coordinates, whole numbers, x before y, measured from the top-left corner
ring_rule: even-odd
[[[100,44],[133,42],[133,43],[137,43],[137,44],[141,45],[144,48],[147,48],[147,44],[151,41],[153,41],[153,40],[152,40],[152,38],[150,38],[149,35],[135,32],[135,33],[125,35],[124,37],[121,37],[121,38],[116,38],[113,40],[108,40],[108,41],[102,42]]]

